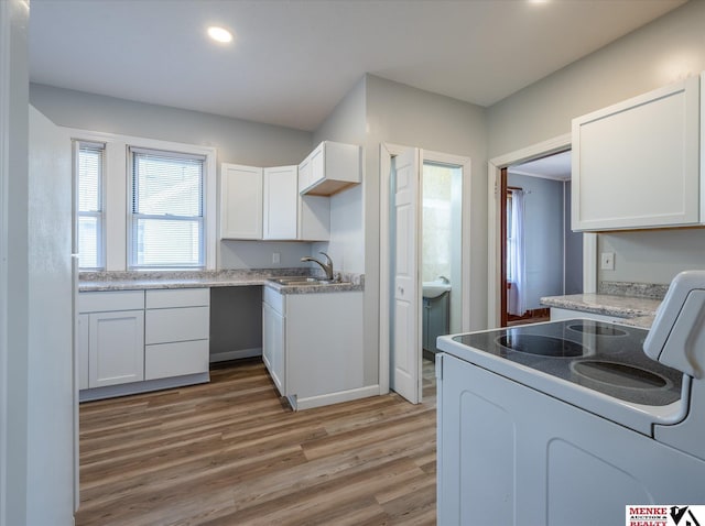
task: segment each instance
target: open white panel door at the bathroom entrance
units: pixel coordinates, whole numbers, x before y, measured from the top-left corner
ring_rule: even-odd
[[[421,231],[421,151],[409,149],[397,156],[393,237],[394,291],[392,303],[391,388],[412,404],[421,402],[421,289],[419,240]]]

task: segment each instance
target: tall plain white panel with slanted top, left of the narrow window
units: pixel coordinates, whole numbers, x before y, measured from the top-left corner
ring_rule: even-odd
[[[73,524],[72,153],[30,107],[26,524]]]

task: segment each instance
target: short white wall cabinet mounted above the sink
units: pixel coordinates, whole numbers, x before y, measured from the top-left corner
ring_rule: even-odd
[[[359,184],[360,146],[324,141],[299,166],[299,191],[330,196]]]

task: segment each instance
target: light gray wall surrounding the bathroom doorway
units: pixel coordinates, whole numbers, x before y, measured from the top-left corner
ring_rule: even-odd
[[[380,143],[468,156],[470,174],[470,309],[473,328],[487,325],[487,138],[485,110],[403,84],[367,76],[365,191],[367,283],[379,295]],[[464,226],[467,228],[467,226]],[[377,298],[379,305],[379,297]],[[366,305],[377,317],[378,307]]]

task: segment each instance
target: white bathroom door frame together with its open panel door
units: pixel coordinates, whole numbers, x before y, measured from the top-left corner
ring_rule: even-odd
[[[459,332],[469,330],[471,316],[470,160],[390,144],[382,144],[380,153],[380,393],[391,388],[410,402],[419,403],[422,398],[422,302],[425,280],[421,271],[422,167],[427,164],[431,171],[437,167],[459,174],[456,176],[459,188],[451,189],[458,201],[456,215],[459,216],[459,227],[456,230],[459,237],[457,243],[452,244],[455,244],[454,249],[459,254],[459,264],[456,265],[459,271],[456,272],[457,277],[453,271],[452,276],[430,271],[432,285],[445,284],[445,280],[456,282],[448,283],[452,287],[448,300],[452,302],[451,296],[455,296],[458,306],[449,309],[448,329]],[[453,176],[449,179],[453,180]],[[449,205],[449,209],[453,215],[453,205]]]

